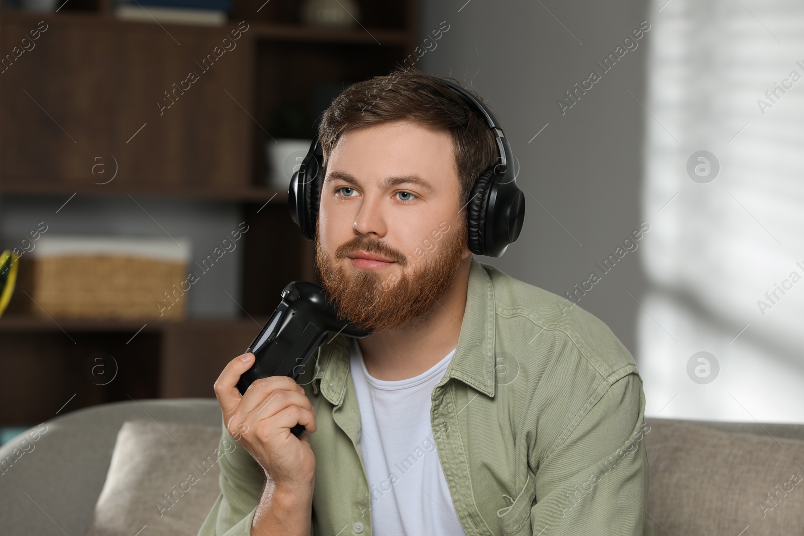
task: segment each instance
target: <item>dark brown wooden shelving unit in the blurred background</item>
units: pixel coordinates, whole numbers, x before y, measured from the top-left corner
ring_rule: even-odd
[[[266,186],[265,144],[299,137],[282,121],[289,110],[312,135],[337,92],[402,65],[416,44],[415,2],[360,2],[363,26],[348,30],[303,26],[301,2],[233,3],[222,27],[121,21],[109,0],[75,0],[55,14],[0,10],[3,57],[47,26],[0,69],[0,211],[9,194],[139,192],[224,200],[250,226],[241,317],[0,317],[0,425],[130,398],[213,397],[220,370],[285,284],[316,280],[313,243],[291,221],[287,192]],[[114,357],[111,383],[87,381],[97,352]]]

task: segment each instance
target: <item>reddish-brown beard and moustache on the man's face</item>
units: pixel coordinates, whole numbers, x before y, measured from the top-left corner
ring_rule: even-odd
[[[461,266],[461,257],[467,241],[466,217],[441,235],[440,240],[427,236],[431,251],[420,248],[408,258],[387,243],[356,235],[341,244],[334,252],[335,260],[346,259],[351,252],[364,250],[394,260],[402,268],[379,272],[371,268],[344,267],[334,264],[322,252],[319,242],[318,220],[315,223],[315,267],[322,285],[338,309],[338,316],[363,329],[373,332],[384,329],[414,329],[429,317],[433,306],[453,287]],[[446,235],[446,236],[445,236]],[[418,256],[421,252],[423,255]]]

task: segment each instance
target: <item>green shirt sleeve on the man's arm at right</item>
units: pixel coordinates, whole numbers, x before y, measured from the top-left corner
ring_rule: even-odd
[[[654,536],[645,510],[650,471],[644,437],[650,426],[644,423],[642,380],[630,372],[605,385],[597,403],[539,464],[533,534]]]

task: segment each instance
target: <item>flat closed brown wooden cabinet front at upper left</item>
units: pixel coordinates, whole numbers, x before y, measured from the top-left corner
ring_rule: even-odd
[[[213,51],[224,50],[236,26],[163,30],[75,14],[4,19],[4,50],[39,20],[47,27],[0,76],[2,125],[15,127],[0,131],[4,182],[91,186],[100,182],[92,167],[101,157],[117,162],[120,187],[248,185],[252,120],[240,108],[253,103],[248,32],[218,58]]]

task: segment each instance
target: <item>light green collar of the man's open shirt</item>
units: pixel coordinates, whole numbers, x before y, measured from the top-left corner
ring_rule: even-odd
[[[466,309],[461,322],[457,348],[443,378],[460,380],[494,398],[494,285],[483,265],[472,257],[466,287]],[[351,338],[330,337],[318,351],[313,390],[322,391],[334,406],[340,406],[347,391]]]

